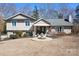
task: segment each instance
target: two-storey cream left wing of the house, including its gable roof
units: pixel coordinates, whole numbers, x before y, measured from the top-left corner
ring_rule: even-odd
[[[32,27],[32,24],[35,22],[35,19],[18,13],[6,19],[6,31],[8,36],[13,34],[15,31],[27,32]]]

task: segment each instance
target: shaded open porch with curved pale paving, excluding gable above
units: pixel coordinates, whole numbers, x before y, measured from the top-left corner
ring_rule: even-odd
[[[47,32],[50,26],[34,26],[34,34],[32,40],[34,41],[50,41],[51,37],[47,37]]]

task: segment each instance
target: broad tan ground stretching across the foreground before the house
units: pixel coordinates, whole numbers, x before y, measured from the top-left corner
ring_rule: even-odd
[[[32,38],[0,42],[0,55],[53,56],[79,55],[79,37],[64,36],[51,41],[33,41]]]

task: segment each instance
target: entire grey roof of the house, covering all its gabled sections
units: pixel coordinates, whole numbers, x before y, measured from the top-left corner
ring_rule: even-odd
[[[22,14],[22,13],[18,13],[18,14],[11,16],[11,17],[8,17],[7,20],[9,20],[13,17],[16,17],[17,15],[23,15],[25,17],[28,17],[28,18],[35,20],[33,17],[30,17],[30,16]],[[64,19],[39,19],[39,20],[35,21],[34,24],[37,23],[40,20],[43,20],[43,21],[45,21],[46,23],[48,23],[52,26],[73,26],[72,23],[64,21]]]

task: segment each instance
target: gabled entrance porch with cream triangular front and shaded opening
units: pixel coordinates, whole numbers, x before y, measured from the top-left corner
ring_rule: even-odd
[[[49,26],[51,26],[50,23],[48,23],[47,21],[45,21],[43,19],[36,21],[33,24],[34,36],[35,35],[38,36],[38,35],[41,35],[41,34],[46,35],[46,31],[47,31]]]

